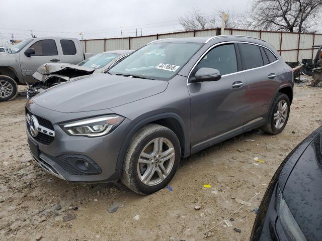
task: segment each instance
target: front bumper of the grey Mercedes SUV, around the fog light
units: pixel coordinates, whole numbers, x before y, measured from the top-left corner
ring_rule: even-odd
[[[30,106],[29,106],[30,107]],[[89,112],[83,113],[61,113],[53,110],[48,110],[43,107],[33,104],[33,108],[28,109],[30,112],[37,116],[41,116],[46,119],[54,120],[78,118],[79,115],[88,115]],[[105,113],[110,110],[105,110]],[[41,113],[41,114],[40,114]],[[54,116],[51,118],[51,116]],[[97,113],[94,113],[97,115]],[[37,164],[50,174],[64,179],[69,182],[109,182],[118,180],[121,176],[121,170],[116,170],[116,164],[120,152],[120,148],[123,144],[124,138],[127,134],[127,127],[131,121],[124,119],[124,121],[111,133],[103,137],[88,138],[82,136],[69,136],[60,127],[59,123],[52,121],[54,127],[55,136],[53,141],[44,145],[37,141],[27,130],[27,137],[29,142],[33,143],[38,150],[37,155],[33,155],[33,158]],[[31,146],[32,144],[29,144]],[[31,152],[32,153],[32,152]],[[76,159],[85,159],[92,166],[95,167],[97,172],[84,173],[84,170],[77,169],[76,165],[71,162]]]

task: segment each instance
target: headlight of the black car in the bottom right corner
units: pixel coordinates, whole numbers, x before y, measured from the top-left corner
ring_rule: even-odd
[[[307,241],[301,228],[297,224],[290,209],[288,208],[279,186],[277,186],[276,192],[276,210],[278,217],[280,218],[280,221],[282,223],[282,228],[288,239],[296,241]]]

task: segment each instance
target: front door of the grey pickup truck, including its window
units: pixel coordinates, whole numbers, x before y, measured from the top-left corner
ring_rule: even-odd
[[[53,39],[43,39],[35,41],[29,48],[35,49],[35,54],[27,57],[23,51],[20,51],[20,65],[24,81],[33,83],[35,80],[32,75],[37,68],[45,63],[59,63],[61,55],[57,49],[57,43]]]

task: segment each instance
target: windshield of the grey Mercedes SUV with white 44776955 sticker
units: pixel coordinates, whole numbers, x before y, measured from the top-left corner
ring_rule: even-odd
[[[201,47],[200,43],[148,44],[109,70],[110,74],[170,79]]]

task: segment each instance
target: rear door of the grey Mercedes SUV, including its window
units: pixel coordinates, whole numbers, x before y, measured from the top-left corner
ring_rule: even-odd
[[[264,121],[280,81],[279,73],[265,54],[268,49],[252,43],[238,43],[238,49],[247,80],[244,123],[247,128]]]

